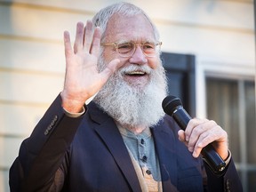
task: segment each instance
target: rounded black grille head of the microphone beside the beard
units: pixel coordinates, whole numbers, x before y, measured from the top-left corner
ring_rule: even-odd
[[[162,108],[164,109],[164,112],[171,116],[173,111],[179,106],[182,107],[181,100],[178,97],[172,95],[165,97],[162,102]]]

